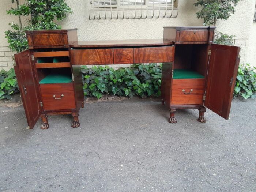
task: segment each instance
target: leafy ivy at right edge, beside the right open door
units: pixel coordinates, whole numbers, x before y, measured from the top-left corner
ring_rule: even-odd
[[[251,68],[249,64],[244,68],[242,65],[239,66],[234,89],[234,96],[238,95],[245,99],[256,98],[256,67]]]

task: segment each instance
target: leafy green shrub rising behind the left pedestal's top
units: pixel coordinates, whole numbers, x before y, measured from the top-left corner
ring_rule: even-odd
[[[7,10],[8,15],[19,16],[19,25],[9,23],[12,30],[5,31],[5,38],[13,51],[20,52],[28,48],[26,39],[26,30],[37,29],[60,29],[61,26],[54,22],[55,19],[63,20],[68,13],[72,13],[65,0],[24,0],[19,5],[19,0],[11,0],[16,2],[16,8]],[[22,27],[21,16],[29,17],[26,26]]]

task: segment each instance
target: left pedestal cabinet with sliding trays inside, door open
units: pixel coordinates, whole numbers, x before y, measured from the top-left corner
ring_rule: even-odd
[[[14,66],[27,123],[32,129],[42,118],[72,114],[72,127],[79,127],[79,109],[84,102],[80,66],[72,66],[69,45],[77,41],[76,29],[26,31],[29,49],[15,54]]]

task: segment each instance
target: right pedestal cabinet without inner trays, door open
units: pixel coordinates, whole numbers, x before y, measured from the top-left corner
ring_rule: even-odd
[[[214,27],[164,27],[164,39],[175,42],[174,62],[162,65],[162,104],[177,109],[206,107],[228,119],[239,64],[239,47],[214,44]]]

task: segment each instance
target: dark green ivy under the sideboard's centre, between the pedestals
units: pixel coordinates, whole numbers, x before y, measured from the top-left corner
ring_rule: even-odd
[[[136,94],[142,98],[160,96],[161,74],[161,67],[155,63],[133,64],[131,68],[117,70],[108,66],[90,69],[82,66],[84,95],[98,99],[103,93],[129,97]]]

